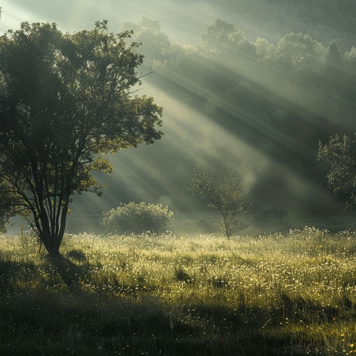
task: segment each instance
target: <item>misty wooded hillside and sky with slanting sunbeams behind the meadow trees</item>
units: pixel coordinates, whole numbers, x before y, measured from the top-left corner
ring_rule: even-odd
[[[133,29],[146,55],[138,71],[154,71],[138,94],[163,106],[165,136],[111,156],[113,174],[99,177],[108,185],[102,198],[74,197],[70,231],[99,232],[102,211],[130,201],[168,205],[177,232],[217,231],[219,216],[187,191],[195,167],[241,178],[254,202],[244,234],[355,227],[316,161],[318,140],[355,131],[355,1],[11,0],[1,7],[1,33],[23,21],[74,32],[108,19],[113,32]]]

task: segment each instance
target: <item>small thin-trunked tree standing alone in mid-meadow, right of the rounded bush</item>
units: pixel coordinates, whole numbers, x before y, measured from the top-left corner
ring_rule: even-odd
[[[252,203],[246,200],[243,187],[235,175],[216,177],[213,173],[209,175],[195,169],[188,190],[208,198],[208,206],[221,213],[223,216],[221,225],[227,237],[243,228],[241,216],[251,210]]]

